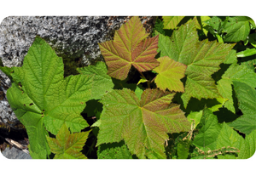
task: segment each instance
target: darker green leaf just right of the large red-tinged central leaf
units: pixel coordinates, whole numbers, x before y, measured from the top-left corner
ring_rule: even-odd
[[[221,127],[218,124],[217,116],[212,114],[210,110],[204,110],[201,117],[201,123],[198,125],[201,128],[195,136],[193,144],[200,150],[216,150],[216,140]]]

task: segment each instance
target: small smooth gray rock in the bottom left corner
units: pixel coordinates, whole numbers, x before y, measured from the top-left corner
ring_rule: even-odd
[[[12,147],[12,149],[6,148],[2,151],[2,154],[9,159],[32,159],[29,154],[26,154],[24,151],[18,150],[15,147]]]

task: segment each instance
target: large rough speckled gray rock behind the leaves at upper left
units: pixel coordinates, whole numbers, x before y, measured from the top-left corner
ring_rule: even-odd
[[[43,37],[59,56],[82,57],[84,65],[102,60],[98,42],[113,38],[113,33],[131,17],[125,16],[10,16],[0,25],[0,59],[3,65],[21,66],[36,35]],[[140,17],[152,31],[153,17]],[[0,117],[14,122],[5,97],[10,80],[0,71]],[[3,89],[3,87],[6,87]],[[1,98],[2,97],[2,98]],[[1,121],[1,119],[0,119]]]

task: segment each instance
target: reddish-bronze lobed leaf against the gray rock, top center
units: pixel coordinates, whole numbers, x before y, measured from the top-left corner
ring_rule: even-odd
[[[113,41],[99,43],[110,77],[125,80],[131,65],[141,72],[159,65],[154,59],[158,37],[146,37],[148,33],[139,18],[132,17],[119,31],[115,31]]]

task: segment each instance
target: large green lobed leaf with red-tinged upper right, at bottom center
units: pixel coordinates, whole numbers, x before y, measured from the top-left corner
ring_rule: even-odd
[[[97,145],[124,139],[138,158],[166,158],[167,133],[189,131],[190,123],[179,105],[170,104],[174,94],[146,89],[141,99],[130,89],[113,90],[102,97],[103,112]]]

